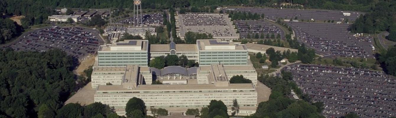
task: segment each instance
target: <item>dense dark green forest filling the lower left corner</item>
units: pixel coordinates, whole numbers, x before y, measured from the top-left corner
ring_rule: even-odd
[[[60,50],[0,51],[0,117],[36,118],[42,105],[55,113],[77,89],[74,66]]]

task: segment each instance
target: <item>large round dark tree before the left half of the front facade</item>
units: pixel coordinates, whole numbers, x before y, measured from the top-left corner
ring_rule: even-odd
[[[136,116],[140,116],[139,113],[142,116],[145,116],[146,115],[145,102],[140,98],[132,97],[131,99],[129,99],[128,103],[126,103],[125,112],[128,117],[139,118],[136,117]]]

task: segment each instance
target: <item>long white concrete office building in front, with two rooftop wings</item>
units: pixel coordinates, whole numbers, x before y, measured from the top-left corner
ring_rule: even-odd
[[[223,101],[227,107],[232,107],[232,100],[237,99],[241,111],[246,114],[254,113],[257,106],[255,85],[230,84],[230,77],[227,74],[230,71],[221,64],[212,64],[208,67],[209,71],[204,75],[205,77],[200,78],[207,79],[209,84],[198,84],[196,79],[175,77],[172,78],[173,80],[164,79],[163,81],[181,82],[145,85],[143,80],[146,79],[140,74],[141,72],[136,71],[136,69],[139,69],[133,69],[132,71],[127,71],[128,75],[124,75],[124,81],[121,81],[122,83],[119,85],[97,86],[94,101],[114,107],[119,115],[125,114],[126,103],[132,97],[142,99],[147,109],[164,108],[170,112],[185,112],[188,108],[206,107],[213,99]],[[184,80],[187,80],[187,82],[182,82]],[[244,109],[244,107],[248,109]],[[148,114],[150,114],[150,111]]]

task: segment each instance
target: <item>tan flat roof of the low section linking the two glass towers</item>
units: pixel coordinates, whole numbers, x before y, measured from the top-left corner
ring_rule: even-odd
[[[169,52],[169,44],[152,44],[150,45],[150,52]],[[195,44],[176,44],[176,52],[198,52]]]

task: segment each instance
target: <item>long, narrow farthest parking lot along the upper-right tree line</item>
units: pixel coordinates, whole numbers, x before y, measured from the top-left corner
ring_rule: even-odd
[[[359,17],[361,12],[350,12],[350,11],[329,11],[329,10],[314,10],[314,9],[275,9],[275,8],[227,8],[224,10],[230,11],[244,11],[257,13],[259,15],[264,14],[267,19],[294,19],[297,17],[298,20],[311,20],[315,21],[341,21],[342,19],[349,19],[354,21]],[[343,13],[350,13],[350,16],[344,16]]]

